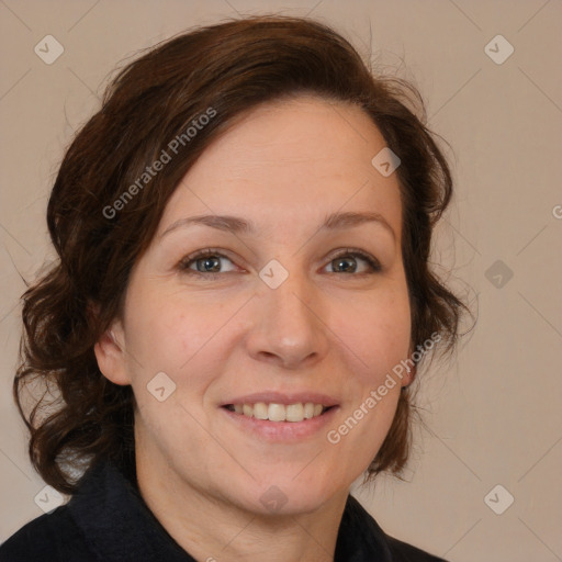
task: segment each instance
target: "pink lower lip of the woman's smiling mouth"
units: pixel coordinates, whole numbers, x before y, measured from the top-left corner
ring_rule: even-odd
[[[232,420],[237,424],[245,434],[251,432],[260,439],[276,442],[291,442],[306,439],[314,436],[334,420],[339,406],[334,406],[321,416],[303,419],[302,422],[270,422],[269,419],[257,419],[244,414],[231,412],[221,407]]]

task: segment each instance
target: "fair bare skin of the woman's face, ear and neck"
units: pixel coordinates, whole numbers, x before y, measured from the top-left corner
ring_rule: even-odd
[[[328,441],[411,350],[397,178],[371,165],[384,146],[353,105],[303,97],[251,110],[172,194],[133,268],[123,317],[95,346],[102,373],[131,384],[138,404],[140,493],[198,561],[334,560],[350,485],[375,457],[411,380],[337,445]],[[379,213],[394,234],[378,222],[319,229],[336,212]],[[161,236],[202,214],[244,218],[256,233],[179,225]],[[179,267],[205,248],[226,257]],[[259,276],[272,259],[289,273],[277,289]],[[209,270],[220,273],[211,279]],[[159,372],[176,384],[162,402],[147,391]],[[322,392],[337,407],[322,429],[274,441],[222,407],[261,391]],[[260,501],[271,486],[284,498],[276,512]]]

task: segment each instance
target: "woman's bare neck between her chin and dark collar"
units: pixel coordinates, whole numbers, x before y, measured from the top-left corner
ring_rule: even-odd
[[[334,561],[349,491],[312,513],[263,514],[245,509],[218,491],[199,488],[160,459],[137,450],[140,495],[172,539],[195,560]]]

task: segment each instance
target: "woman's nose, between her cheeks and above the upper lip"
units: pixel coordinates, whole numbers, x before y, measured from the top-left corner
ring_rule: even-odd
[[[294,370],[328,352],[326,303],[305,276],[290,272],[277,289],[263,284],[252,311],[256,322],[246,341],[254,359]]]

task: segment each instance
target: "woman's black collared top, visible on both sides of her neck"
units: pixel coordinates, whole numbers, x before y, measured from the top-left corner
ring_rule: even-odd
[[[215,558],[227,560],[220,553]],[[92,465],[66,505],[24,525],[0,546],[0,562],[40,561],[195,562],[149,510],[136,479],[110,461]],[[335,562],[445,561],[385,535],[348,495]]]

